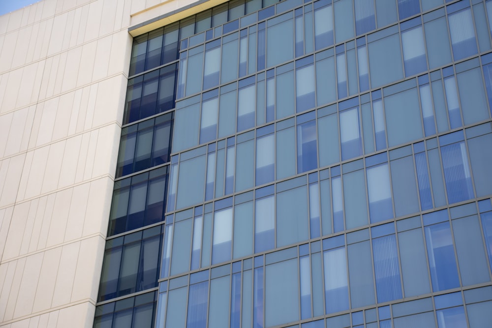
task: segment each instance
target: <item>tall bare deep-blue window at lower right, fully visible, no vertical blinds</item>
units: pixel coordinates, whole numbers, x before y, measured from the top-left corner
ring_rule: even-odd
[[[449,222],[425,228],[427,255],[434,292],[460,286]]]

